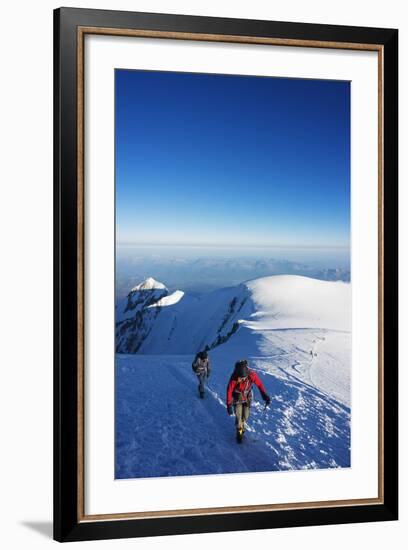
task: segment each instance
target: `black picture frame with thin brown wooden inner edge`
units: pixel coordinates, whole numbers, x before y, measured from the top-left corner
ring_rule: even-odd
[[[262,44],[378,55],[378,495],[91,516],[84,492],[84,37]],[[60,8],[54,12],[54,537],[58,541],[397,519],[398,32]]]

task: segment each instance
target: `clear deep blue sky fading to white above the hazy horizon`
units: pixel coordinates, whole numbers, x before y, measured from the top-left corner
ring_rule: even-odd
[[[115,72],[116,239],[348,247],[348,82]]]

